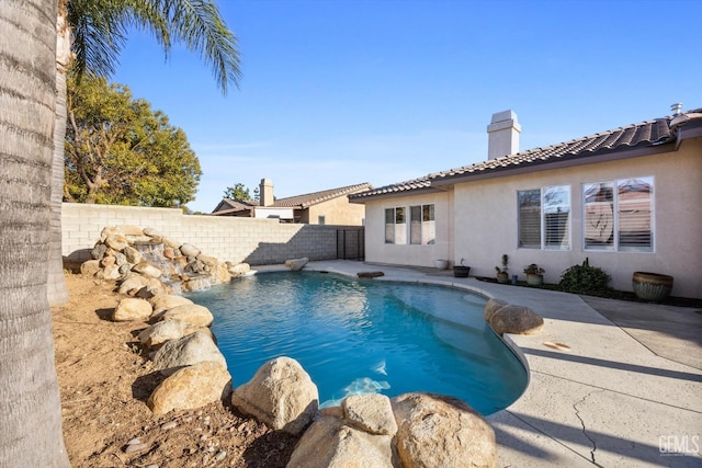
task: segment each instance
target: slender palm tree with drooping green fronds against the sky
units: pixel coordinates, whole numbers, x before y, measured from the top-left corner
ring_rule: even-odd
[[[4,2],[5,0],[0,0]],[[52,161],[48,249],[49,305],[68,301],[61,261],[61,198],[64,196],[64,132],[66,76],[109,77],[126,43],[129,27],[149,32],[166,57],[174,43],[211,66],[224,93],[238,85],[239,52],[214,0],[58,0],[56,12],[56,117]]]

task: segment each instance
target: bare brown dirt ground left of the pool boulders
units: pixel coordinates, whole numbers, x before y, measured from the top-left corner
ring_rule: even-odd
[[[135,338],[146,323],[107,320],[120,299],[113,282],[66,274],[66,283],[70,303],[52,312],[64,440],[73,467],[285,466],[297,440],[226,402],[152,415],[146,400],[162,377]],[[131,452],[137,444],[141,449]]]

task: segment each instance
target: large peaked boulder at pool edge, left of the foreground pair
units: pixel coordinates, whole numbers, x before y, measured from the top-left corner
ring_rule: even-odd
[[[319,392],[297,361],[278,357],[231,395],[231,404],[273,430],[299,434],[319,409]]]

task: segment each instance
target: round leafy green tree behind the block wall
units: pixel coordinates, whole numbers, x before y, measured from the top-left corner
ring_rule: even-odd
[[[185,134],[160,111],[104,78],[68,81],[65,198],[114,205],[182,206],[201,170]]]

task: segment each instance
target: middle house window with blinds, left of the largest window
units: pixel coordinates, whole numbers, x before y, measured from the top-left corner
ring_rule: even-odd
[[[570,249],[570,187],[517,192],[518,246],[521,249]]]

